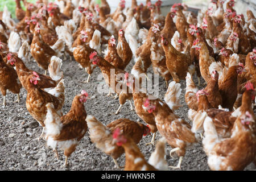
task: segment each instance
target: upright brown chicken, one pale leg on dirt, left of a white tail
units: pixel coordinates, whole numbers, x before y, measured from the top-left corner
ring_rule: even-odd
[[[94,51],[94,49],[90,48],[88,44],[86,44],[86,40],[88,38],[88,34],[82,30],[80,32],[79,37],[77,38],[77,46],[73,51],[73,56],[75,60],[81,64],[82,68],[85,68],[85,71],[89,74],[86,82],[89,82],[90,74],[92,74],[94,65],[90,63],[90,53]]]

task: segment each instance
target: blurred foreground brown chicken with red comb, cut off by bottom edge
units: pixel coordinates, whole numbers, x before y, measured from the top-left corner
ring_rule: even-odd
[[[112,138],[117,146],[125,150],[125,171],[156,171],[148,164],[134,140],[122,135],[120,129],[114,131]]]

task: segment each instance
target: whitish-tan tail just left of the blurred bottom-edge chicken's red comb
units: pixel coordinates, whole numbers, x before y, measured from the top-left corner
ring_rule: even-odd
[[[87,115],[85,121],[89,128],[90,139],[101,151],[108,153],[113,150],[115,144],[112,144],[113,138],[110,131],[100,121],[92,115]]]

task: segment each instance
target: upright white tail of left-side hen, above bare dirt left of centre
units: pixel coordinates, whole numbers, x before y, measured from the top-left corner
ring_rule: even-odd
[[[51,63],[48,66],[49,76],[54,81],[59,81],[63,78],[63,72],[61,71],[62,60],[59,57],[52,56]]]

